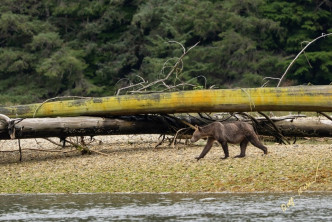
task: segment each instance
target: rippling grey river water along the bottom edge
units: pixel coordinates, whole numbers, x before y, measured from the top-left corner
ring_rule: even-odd
[[[332,192],[0,195],[0,221],[285,220],[332,221]]]

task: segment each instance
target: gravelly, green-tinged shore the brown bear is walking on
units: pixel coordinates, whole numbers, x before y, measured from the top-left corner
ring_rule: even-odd
[[[250,145],[245,158],[233,158],[240,149],[231,145],[227,160],[215,144],[196,161],[204,140],[176,147],[165,140],[154,148],[158,137],[86,138],[96,151],[91,155],[44,139],[21,140],[22,162],[17,140],[0,141],[0,193],[332,191],[332,140],[266,142],[266,156]]]

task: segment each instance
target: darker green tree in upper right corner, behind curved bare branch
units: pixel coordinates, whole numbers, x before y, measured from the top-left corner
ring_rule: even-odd
[[[332,2],[301,0],[267,1],[261,7],[264,16],[280,23],[283,38],[278,47],[285,56],[294,56],[308,41],[322,33],[331,33]],[[289,78],[298,84],[330,84],[332,82],[332,38],[319,40],[299,57],[290,70]],[[292,58],[285,62],[289,63]]]

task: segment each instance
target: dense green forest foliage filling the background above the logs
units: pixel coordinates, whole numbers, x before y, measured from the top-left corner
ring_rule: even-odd
[[[173,40],[199,45],[167,84],[261,86],[330,24],[329,3],[312,0],[3,0],[1,103],[113,95],[140,77],[163,78],[183,53]],[[329,84],[331,48],[332,37],[312,44],[287,78]]]

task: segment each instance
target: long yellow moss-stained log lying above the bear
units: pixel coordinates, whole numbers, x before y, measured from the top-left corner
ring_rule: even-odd
[[[194,90],[0,107],[15,117],[144,113],[332,111],[332,86]]]

